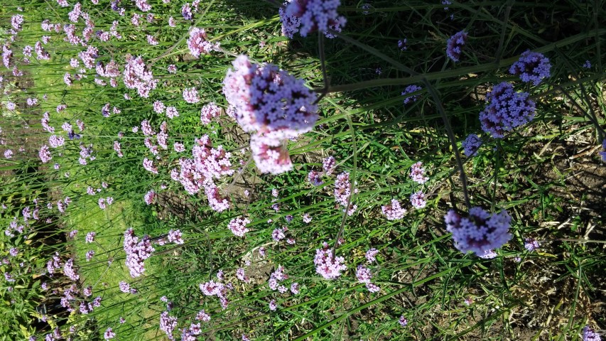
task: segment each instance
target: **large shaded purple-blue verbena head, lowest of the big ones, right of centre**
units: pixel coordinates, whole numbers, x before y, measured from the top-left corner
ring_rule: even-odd
[[[450,210],[444,220],[448,232],[453,233],[455,247],[464,254],[474,251],[477,256],[485,256],[487,251],[498,249],[512,239],[509,233],[512,216],[504,210],[490,214],[481,207],[472,207],[469,217]]]

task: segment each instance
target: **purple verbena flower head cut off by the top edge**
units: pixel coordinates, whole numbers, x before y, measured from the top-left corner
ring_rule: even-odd
[[[328,38],[334,38],[328,29],[340,32],[345,26],[345,17],[339,16],[337,7],[340,0],[287,0],[286,9],[280,9],[282,34],[293,38],[295,33],[306,37],[315,31],[323,32]]]

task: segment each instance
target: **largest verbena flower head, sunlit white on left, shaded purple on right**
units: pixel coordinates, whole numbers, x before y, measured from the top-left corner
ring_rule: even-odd
[[[289,139],[313,129],[318,106],[303,80],[276,65],[252,63],[246,55],[232,64],[223,81],[223,93],[244,131]]]

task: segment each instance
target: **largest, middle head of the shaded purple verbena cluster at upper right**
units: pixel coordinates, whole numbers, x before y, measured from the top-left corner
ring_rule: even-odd
[[[495,139],[501,139],[506,131],[534,119],[535,104],[528,92],[515,92],[514,87],[501,82],[486,95],[488,105],[480,112],[482,130]]]

